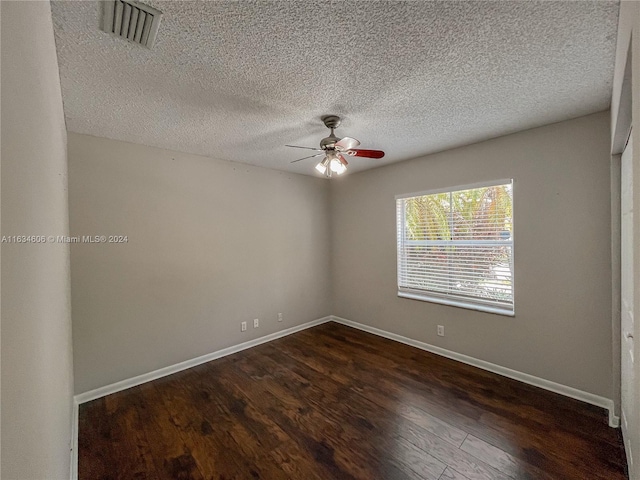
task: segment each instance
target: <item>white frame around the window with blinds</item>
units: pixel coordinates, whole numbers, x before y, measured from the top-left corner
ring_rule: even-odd
[[[399,209],[399,201],[400,200],[405,200],[407,198],[414,198],[414,197],[422,197],[422,196],[427,196],[427,195],[435,195],[435,194],[439,194],[439,193],[455,193],[458,191],[465,191],[465,190],[473,190],[473,189],[478,189],[478,188],[487,188],[487,187],[495,187],[495,186],[500,186],[500,185],[511,185],[511,205],[512,205],[512,215],[511,215],[511,225],[512,225],[512,231],[511,231],[511,238],[510,238],[510,247],[511,247],[511,256],[510,256],[510,271],[511,271],[511,294],[512,294],[512,304],[511,304],[511,308],[507,307],[507,306],[500,306],[500,305],[496,305],[495,302],[491,301],[491,300],[483,300],[483,299],[478,299],[478,298],[469,298],[469,299],[463,299],[461,298],[460,295],[456,295],[456,294],[448,294],[448,293],[440,293],[440,292],[432,292],[432,291],[426,291],[426,290],[418,290],[418,289],[411,289],[411,288],[407,288],[407,287],[401,287],[401,279],[402,277],[402,264],[403,264],[403,249],[401,248],[402,246],[406,245],[406,240],[403,238],[404,235],[406,234],[406,229],[404,227],[405,225],[405,221],[406,221],[406,210],[405,207],[403,205],[402,207],[402,217],[400,218],[399,213],[400,213],[400,209]],[[492,180],[492,181],[487,181],[487,182],[479,182],[479,183],[473,183],[473,184],[467,184],[467,185],[456,185],[453,187],[444,187],[444,188],[436,188],[436,189],[430,189],[430,190],[424,190],[424,191],[420,191],[420,192],[414,192],[414,193],[405,193],[405,194],[400,194],[400,195],[396,195],[395,196],[395,202],[396,202],[396,254],[397,254],[397,263],[396,263],[396,268],[397,268],[397,289],[398,289],[398,297],[401,298],[408,298],[408,299],[412,299],[412,300],[420,300],[420,301],[424,301],[424,302],[431,302],[431,303],[438,303],[438,304],[442,304],[442,305],[449,305],[449,306],[453,306],[453,307],[461,307],[461,308],[466,308],[466,309],[470,309],[470,310],[477,310],[477,311],[481,311],[481,312],[487,312],[487,313],[495,313],[495,314],[499,314],[499,315],[505,315],[505,316],[510,316],[513,317],[515,316],[515,268],[514,268],[514,263],[515,263],[515,195],[514,195],[514,186],[515,186],[515,181],[512,178],[506,178],[506,179],[501,179],[501,180]],[[402,228],[400,228],[402,225]],[[444,242],[445,244],[449,244],[450,241],[448,240],[443,240],[442,242]],[[500,242],[500,241],[491,241],[491,240],[487,240],[487,241],[483,241],[483,243],[488,242],[487,244],[490,244],[490,242]],[[500,242],[499,244],[504,244],[504,242]]]

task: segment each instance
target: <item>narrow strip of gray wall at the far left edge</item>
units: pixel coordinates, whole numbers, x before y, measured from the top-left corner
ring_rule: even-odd
[[[1,2],[2,235],[68,234],[49,2]],[[2,478],[69,478],[69,248],[2,244]]]

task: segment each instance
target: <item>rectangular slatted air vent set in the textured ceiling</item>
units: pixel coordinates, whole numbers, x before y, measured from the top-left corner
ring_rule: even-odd
[[[102,30],[151,48],[158,34],[162,12],[134,0],[102,2]]]

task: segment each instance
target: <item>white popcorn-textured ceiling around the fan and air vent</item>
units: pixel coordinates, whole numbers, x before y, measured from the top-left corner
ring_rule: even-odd
[[[145,3],[150,50],[52,2],[70,131],[313,175],[326,114],[353,172],[609,107],[617,2]]]

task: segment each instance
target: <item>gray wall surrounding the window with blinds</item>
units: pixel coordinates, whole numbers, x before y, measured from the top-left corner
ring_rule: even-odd
[[[334,181],[333,314],[611,398],[609,147],[602,112]],[[515,317],[398,298],[394,196],[504,178]]]

